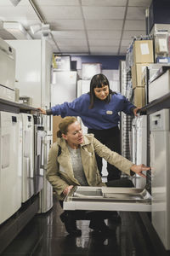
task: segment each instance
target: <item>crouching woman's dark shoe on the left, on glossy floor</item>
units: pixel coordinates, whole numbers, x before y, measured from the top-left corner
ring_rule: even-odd
[[[82,236],[82,230],[77,229],[76,219],[72,218],[68,212],[63,212],[60,219],[65,224],[65,230],[71,236]]]

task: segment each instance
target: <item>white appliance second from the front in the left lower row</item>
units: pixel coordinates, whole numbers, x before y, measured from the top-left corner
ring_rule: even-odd
[[[23,122],[22,202],[34,195],[34,120],[30,113],[20,113]]]

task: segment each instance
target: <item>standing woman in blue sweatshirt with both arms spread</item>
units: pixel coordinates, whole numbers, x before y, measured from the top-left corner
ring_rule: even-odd
[[[51,109],[40,109],[41,113],[65,116],[79,116],[82,123],[88,127],[88,133],[94,133],[99,142],[105,144],[118,154],[120,150],[120,112],[136,115],[137,110],[125,96],[110,89],[108,79],[104,74],[96,74],[91,79],[90,91],[82,94],[73,102],[64,102]],[[102,159],[96,155],[98,169],[102,172]],[[115,166],[107,163],[107,180],[119,179],[121,172]]]

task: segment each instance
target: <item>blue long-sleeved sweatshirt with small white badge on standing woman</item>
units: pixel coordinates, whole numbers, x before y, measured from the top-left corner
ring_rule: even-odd
[[[131,108],[136,108],[128,102],[125,96],[120,93],[111,95],[111,102],[107,103],[98,98],[94,100],[94,108],[89,109],[90,96],[88,93],[82,94],[73,102],[64,102],[51,108],[53,115],[79,116],[85,126],[90,129],[104,130],[118,125],[120,121],[119,113],[132,114]]]

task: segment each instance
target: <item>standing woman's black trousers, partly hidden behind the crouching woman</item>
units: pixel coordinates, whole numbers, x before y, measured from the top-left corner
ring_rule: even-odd
[[[88,133],[93,133],[94,137],[97,138],[100,143],[105,144],[105,146],[110,148],[112,151],[121,154],[121,137],[118,126],[105,130],[88,129]],[[100,175],[102,175],[102,158],[99,157],[98,154],[96,154],[95,156],[99,173]],[[121,172],[116,168],[116,166],[112,166],[109,163],[107,163],[107,172],[107,181],[119,179],[121,177]]]

